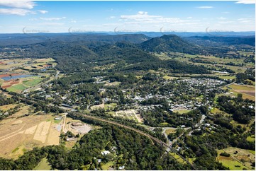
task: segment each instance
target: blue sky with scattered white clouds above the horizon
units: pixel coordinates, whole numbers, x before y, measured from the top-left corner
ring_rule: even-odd
[[[255,31],[255,1],[0,1],[0,33]]]

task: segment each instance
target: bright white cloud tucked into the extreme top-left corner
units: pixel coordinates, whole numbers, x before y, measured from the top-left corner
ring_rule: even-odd
[[[7,6],[13,8],[27,8],[32,9],[36,4],[33,1],[17,1],[17,0],[1,0],[0,6]]]

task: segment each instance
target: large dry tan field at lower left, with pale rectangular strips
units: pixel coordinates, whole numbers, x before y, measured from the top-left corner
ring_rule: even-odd
[[[28,112],[29,107],[24,106],[0,122],[0,157],[18,158],[35,146],[59,144],[60,130],[57,128],[61,128],[61,124],[55,124],[50,114],[21,117]]]

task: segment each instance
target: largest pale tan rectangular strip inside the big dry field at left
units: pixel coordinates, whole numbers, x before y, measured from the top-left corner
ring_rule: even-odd
[[[41,122],[38,124],[38,129],[36,129],[33,139],[45,143],[48,131],[50,129],[50,123],[51,122]]]

